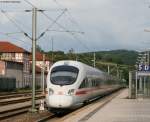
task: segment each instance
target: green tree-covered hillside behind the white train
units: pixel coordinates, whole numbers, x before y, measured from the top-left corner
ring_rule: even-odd
[[[46,54],[53,62],[59,60],[78,60],[93,66],[94,52],[74,53],[74,51],[69,50],[68,53],[63,51],[49,51]],[[128,72],[134,70],[137,56],[138,52],[130,50],[97,51],[95,52],[96,68],[107,72],[109,66],[111,75],[124,78],[128,81]]]

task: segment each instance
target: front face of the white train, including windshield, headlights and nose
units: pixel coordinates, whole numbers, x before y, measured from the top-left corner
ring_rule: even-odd
[[[46,103],[51,109],[68,109],[74,105],[75,82],[79,69],[69,64],[54,64],[47,77]]]

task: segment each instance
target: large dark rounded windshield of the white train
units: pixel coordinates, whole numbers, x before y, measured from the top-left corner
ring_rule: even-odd
[[[78,68],[73,66],[57,66],[51,71],[51,82],[56,85],[71,85],[78,76]]]

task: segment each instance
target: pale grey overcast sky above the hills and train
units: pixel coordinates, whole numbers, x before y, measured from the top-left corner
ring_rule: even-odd
[[[0,0],[2,1],[2,0]],[[46,51],[51,50],[51,38],[54,50],[76,52],[114,49],[144,50],[150,48],[150,0],[28,0],[36,7],[45,9],[45,14],[56,19],[67,8],[68,11],[54,24],[50,30],[80,31],[72,36],[66,32],[49,31],[38,40],[38,44]],[[19,46],[30,49],[31,40],[23,34],[2,34],[10,32],[27,32],[31,36],[31,12],[20,10],[31,9],[31,5],[21,0],[20,4],[0,3],[0,40],[8,40]],[[14,20],[19,28],[7,18]],[[38,34],[44,32],[52,21],[42,13],[37,15]],[[75,38],[74,38],[75,37]],[[16,39],[17,38],[17,39]]]

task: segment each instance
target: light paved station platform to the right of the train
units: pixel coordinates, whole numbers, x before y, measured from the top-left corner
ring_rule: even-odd
[[[123,90],[96,112],[74,116],[73,122],[150,122],[150,99],[128,99],[128,89]],[[90,115],[89,117],[87,115]],[[71,118],[70,118],[71,119]],[[67,122],[67,120],[65,121]]]

